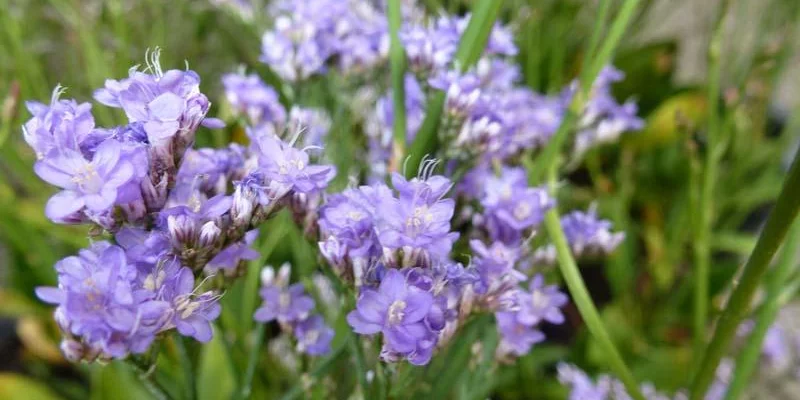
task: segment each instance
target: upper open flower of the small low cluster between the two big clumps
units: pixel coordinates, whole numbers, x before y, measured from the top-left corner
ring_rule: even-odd
[[[277,320],[281,323],[301,321],[308,317],[314,308],[314,299],[306,295],[302,283],[282,287],[267,285],[259,292],[264,301],[256,310],[254,318],[258,322]]]

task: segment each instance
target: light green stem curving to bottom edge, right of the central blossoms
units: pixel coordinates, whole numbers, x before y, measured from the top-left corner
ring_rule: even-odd
[[[556,185],[556,167],[557,164],[554,163],[551,167],[549,178],[550,188],[553,192]],[[586,289],[586,285],[583,282],[575,259],[572,257],[572,252],[558,217],[558,210],[556,210],[555,207],[551,208],[545,214],[544,223],[547,233],[556,248],[558,267],[561,270],[561,274],[564,276],[564,281],[567,283],[569,292],[572,295],[575,305],[578,307],[578,311],[581,313],[581,317],[583,317],[583,320],[586,322],[589,333],[595,338],[598,345],[605,353],[609,367],[625,385],[628,394],[634,399],[644,400],[644,396],[639,390],[636,379],[634,379],[633,374],[628,370],[625,361],[611,341],[611,337],[608,335],[605,326],[603,326],[603,321],[600,319],[597,308],[594,306],[591,296],[589,296],[589,291]]]

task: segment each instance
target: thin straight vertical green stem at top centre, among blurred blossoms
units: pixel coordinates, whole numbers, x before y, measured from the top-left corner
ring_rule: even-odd
[[[405,69],[406,60],[403,46],[400,43],[400,23],[402,12],[400,0],[389,0],[389,34],[391,37],[389,57],[392,74],[392,102],[394,110],[392,160],[389,163],[393,171],[398,170],[400,160],[406,152],[406,92]]]

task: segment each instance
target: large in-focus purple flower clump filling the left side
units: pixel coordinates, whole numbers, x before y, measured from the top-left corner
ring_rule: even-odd
[[[49,105],[28,103],[34,169],[61,189],[46,215],[108,238],[59,261],[58,285],[37,289],[57,306],[70,360],[140,354],[173,330],[210,340],[223,290],[258,257],[259,224],[284,208],[314,214],[313,199],[335,174],[270,131],[247,147],[194,149],[201,126],[223,125],[206,117],[199,85],[194,71],[163,71],[156,51],[146,69],[95,92],[125,112],[126,125],[95,126],[91,104],[60,99],[60,87]],[[294,114],[293,132],[313,119]],[[298,321],[295,332],[310,354],[324,352],[331,334],[318,318]]]

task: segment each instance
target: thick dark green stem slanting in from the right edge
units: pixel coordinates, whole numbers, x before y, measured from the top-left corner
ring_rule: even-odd
[[[739,322],[750,308],[750,302],[761,282],[761,277],[783,242],[792,221],[797,217],[798,210],[800,210],[800,196],[797,193],[800,193],[800,152],[795,155],[792,168],[783,183],[775,208],[770,213],[764,230],[758,237],[756,248],[753,249],[753,253],[747,260],[741,277],[733,282],[733,293],[717,323],[714,337],[711,339],[700,369],[692,383],[691,399],[702,398],[711,384],[717,365],[733,339]]]

